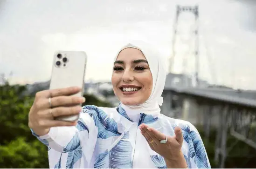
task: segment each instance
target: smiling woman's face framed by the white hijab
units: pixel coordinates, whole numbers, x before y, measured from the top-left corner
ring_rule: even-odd
[[[114,63],[112,85],[119,101],[127,106],[144,103],[152,91],[152,74],[142,52],[125,48]]]

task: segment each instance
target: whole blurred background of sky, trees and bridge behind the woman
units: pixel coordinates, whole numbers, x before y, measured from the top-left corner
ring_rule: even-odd
[[[0,167],[49,167],[28,112],[56,50],[87,53],[86,104],[111,107],[130,40],[166,58],[161,112],[198,128],[212,168],[256,168],[256,0],[0,0]]]

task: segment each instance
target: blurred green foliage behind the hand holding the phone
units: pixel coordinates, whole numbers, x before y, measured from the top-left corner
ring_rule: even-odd
[[[49,168],[47,147],[28,128],[28,112],[34,96],[22,95],[25,90],[25,86],[12,86],[8,82],[0,86],[1,168]],[[111,107],[93,95],[84,97],[86,104]]]

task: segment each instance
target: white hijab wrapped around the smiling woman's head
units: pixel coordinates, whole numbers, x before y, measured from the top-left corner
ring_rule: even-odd
[[[125,48],[130,47],[136,48],[144,54],[152,74],[153,85],[151,95],[144,103],[134,106],[122,106],[125,107],[125,109],[129,108],[130,110],[137,110],[145,114],[159,114],[159,106],[163,103],[163,97],[161,97],[161,95],[166,81],[166,64],[164,59],[154,47],[143,41],[134,41],[125,45],[125,47],[120,49],[118,54]],[[118,54],[114,61],[117,60]]]

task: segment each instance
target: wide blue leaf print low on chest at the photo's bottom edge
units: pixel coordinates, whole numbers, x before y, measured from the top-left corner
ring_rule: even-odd
[[[97,157],[94,168],[131,169],[131,153],[131,143],[120,140],[109,152],[105,151]]]

